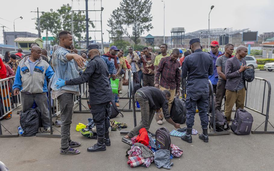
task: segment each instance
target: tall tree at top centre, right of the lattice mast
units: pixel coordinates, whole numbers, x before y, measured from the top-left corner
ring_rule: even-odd
[[[111,27],[109,33],[116,37],[125,34],[138,44],[139,37],[153,28],[151,5],[151,0],[122,0],[120,7],[112,12],[108,20],[108,26]],[[129,33],[129,29],[132,33]]]

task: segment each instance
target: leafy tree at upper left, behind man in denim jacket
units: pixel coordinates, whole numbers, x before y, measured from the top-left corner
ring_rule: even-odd
[[[61,30],[67,30],[72,32],[71,29],[71,14],[72,8],[69,5],[61,6],[57,12],[53,11],[52,9],[50,12],[45,12],[41,15],[40,25],[41,25],[41,32],[50,32],[54,37],[55,40],[53,44],[58,43],[58,33]],[[78,11],[73,12],[73,36],[74,40],[77,39],[78,41],[83,39],[83,31],[86,30],[86,15],[85,12]],[[37,22],[36,22],[37,25]],[[92,21],[89,21],[89,25],[94,28],[94,24]],[[84,34],[85,35],[85,34]],[[91,39],[91,38],[90,38]],[[77,46],[76,46],[77,47]]]

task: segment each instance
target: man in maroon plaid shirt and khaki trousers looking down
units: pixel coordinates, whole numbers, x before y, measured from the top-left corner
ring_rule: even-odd
[[[171,98],[168,101],[169,112],[175,94],[180,92],[180,63],[177,60],[179,54],[179,49],[175,48],[170,56],[162,58],[155,75],[155,87],[158,89],[160,88],[162,91],[168,90],[171,94]]]

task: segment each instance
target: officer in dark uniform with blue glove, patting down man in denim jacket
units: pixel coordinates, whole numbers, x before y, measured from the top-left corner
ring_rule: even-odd
[[[67,81],[59,79],[56,85],[62,87],[64,85],[83,84],[88,81],[89,103],[93,121],[96,125],[97,143],[89,147],[87,151],[105,151],[106,145],[111,145],[108,131],[110,127],[108,110],[110,101],[113,99],[112,89],[108,81],[107,64],[100,57],[99,46],[96,44],[89,45],[88,50],[91,60],[86,65],[82,75]]]

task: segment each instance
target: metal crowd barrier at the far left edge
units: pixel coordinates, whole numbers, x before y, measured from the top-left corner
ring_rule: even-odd
[[[21,106],[21,99],[20,94],[19,95],[13,95],[13,83],[14,83],[14,77],[11,76],[5,79],[0,80],[0,89],[1,89],[1,103],[2,105],[0,107],[1,114],[0,114],[0,138],[4,137],[18,137],[19,134],[12,134],[8,131],[8,129],[5,128],[5,126],[1,123],[1,119],[5,116],[7,116],[9,113],[11,113],[14,109]],[[2,135],[2,126],[3,128],[8,131],[8,135]]]

